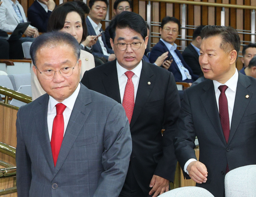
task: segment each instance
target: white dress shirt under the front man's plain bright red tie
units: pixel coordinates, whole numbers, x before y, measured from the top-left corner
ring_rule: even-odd
[[[65,99],[61,102],[62,104],[66,105],[66,109],[63,112],[64,134],[66,132],[66,128],[68,126],[68,121],[69,121],[71,112],[73,110],[74,104],[76,102],[76,98],[78,96],[79,91],[80,91],[80,83],[78,84],[78,87],[76,88],[74,93],[72,95],[70,95],[70,97],[68,97],[67,99]],[[48,132],[49,132],[50,141],[52,139],[53,120],[56,116],[56,104],[58,104],[58,103],[59,102],[57,100],[55,100],[54,98],[49,96],[48,111],[47,111],[47,125],[48,125]],[[64,134],[63,134],[63,136],[64,136]]]

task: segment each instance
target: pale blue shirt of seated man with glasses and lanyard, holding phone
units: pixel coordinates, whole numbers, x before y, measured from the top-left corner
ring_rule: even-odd
[[[175,53],[175,50],[177,49],[177,45],[175,43],[170,44],[166,41],[164,41],[162,38],[160,38],[160,40],[166,45],[167,49],[170,51],[170,53],[172,54],[172,57],[174,59],[174,61],[176,62],[176,64],[178,65],[178,68],[180,70],[180,73],[182,75],[182,81],[186,80],[186,79],[192,79],[188,69],[186,69],[183,65],[183,63],[181,62],[180,58],[178,57],[178,55]]]

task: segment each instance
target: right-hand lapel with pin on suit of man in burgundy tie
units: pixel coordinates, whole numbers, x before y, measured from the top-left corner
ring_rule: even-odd
[[[252,98],[252,92],[247,89],[247,87],[250,86],[250,81],[248,80],[248,77],[238,72],[238,83],[236,87],[236,99],[234,103],[234,109],[232,114],[232,120],[231,120],[231,128],[230,128],[230,134],[228,138],[228,144],[232,140],[236,129],[244,115],[244,112],[248,106],[248,103],[250,102],[250,99]],[[246,95],[249,95],[250,97],[246,99]]]

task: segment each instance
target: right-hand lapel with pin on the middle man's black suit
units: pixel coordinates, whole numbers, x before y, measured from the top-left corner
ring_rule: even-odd
[[[138,85],[138,91],[134,104],[130,128],[132,128],[132,126],[136,122],[142,108],[144,107],[146,101],[148,100],[148,97],[155,85],[155,80],[155,75],[150,69],[150,66],[148,65],[148,63],[142,60],[142,70],[140,73],[140,81]],[[150,82],[150,85],[148,85],[148,82]]]

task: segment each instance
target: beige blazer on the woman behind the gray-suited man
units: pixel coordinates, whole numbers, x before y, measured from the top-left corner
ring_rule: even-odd
[[[81,50],[80,59],[82,60],[80,79],[84,76],[84,72],[95,67],[94,57],[91,53]],[[34,64],[32,63],[32,66]],[[31,66],[31,89],[32,89],[32,100],[44,95],[46,92],[42,89],[35,73]]]

